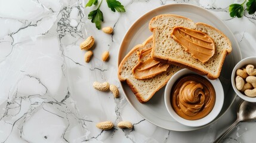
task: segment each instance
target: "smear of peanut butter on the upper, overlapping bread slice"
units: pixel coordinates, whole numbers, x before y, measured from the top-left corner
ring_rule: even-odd
[[[202,63],[214,55],[214,40],[199,30],[177,26],[172,30],[171,36],[185,48],[185,51]]]

